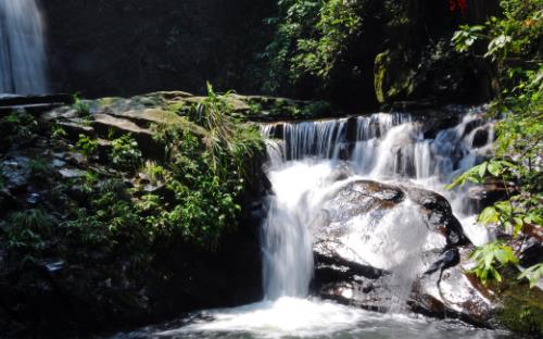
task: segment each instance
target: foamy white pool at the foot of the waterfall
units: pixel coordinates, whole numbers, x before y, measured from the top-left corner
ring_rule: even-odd
[[[415,314],[381,314],[317,299],[280,298],[190,316],[113,339],[137,338],[519,338],[454,319]]]

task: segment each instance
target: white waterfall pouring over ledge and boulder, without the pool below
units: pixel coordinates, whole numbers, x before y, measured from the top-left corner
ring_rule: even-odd
[[[490,154],[493,131],[481,112],[481,108],[467,110],[456,126],[433,138],[425,138],[424,122],[406,113],[262,126],[269,155],[265,171],[274,190],[262,241],[266,298],[308,293],[316,215],[331,191],[356,179],[405,183],[437,191],[450,200],[472,242],[488,241],[488,233],[469,214],[467,190],[444,189],[454,176]],[[353,123],[354,134],[349,126]],[[475,146],[480,128],[490,135],[484,145]],[[338,180],[340,164],[348,170]],[[354,255],[392,272],[389,285],[396,301],[391,309],[396,311],[417,274],[428,268],[421,266],[420,256],[422,247],[433,241],[415,211],[407,200],[384,216],[355,217],[341,225],[351,229],[342,243],[350,243]]]

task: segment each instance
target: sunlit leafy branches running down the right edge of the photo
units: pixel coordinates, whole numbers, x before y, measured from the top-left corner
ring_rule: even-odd
[[[516,277],[510,265],[519,265],[518,242],[536,237],[543,226],[543,7],[536,0],[515,0],[502,1],[502,17],[492,17],[485,25],[460,26],[453,37],[459,52],[489,60],[500,87],[490,113],[500,120],[495,156],[458,177],[453,186],[489,178],[503,183],[506,199],[487,208],[479,222],[498,224],[510,237],[478,248],[472,254],[472,273],[483,284],[506,279],[509,281],[504,284],[512,285],[517,278],[533,287],[543,277],[543,262],[519,267]],[[509,312],[508,325],[543,331],[541,312],[531,311]]]

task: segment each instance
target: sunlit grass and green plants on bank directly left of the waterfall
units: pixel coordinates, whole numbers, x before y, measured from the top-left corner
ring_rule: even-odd
[[[160,173],[175,201],[165,208],[148,196],[139,208],[150,214],[146,223],[153,233],[179,235],[214,248],[220,235],[237,224],[239,199],[255,172],[263,141],[254,127],[232,117],[229,93],[219,96],[211,85],[207,90],[207,98],[188,111],[203,133],[179,126],[157,128],[155,139],[166,150]]]

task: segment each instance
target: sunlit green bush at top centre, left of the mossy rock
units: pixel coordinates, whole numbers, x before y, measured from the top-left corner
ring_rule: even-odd
[[[349,39],[362,25],[366,1],[282,0],[279,14],[267,23],[275,27],[274,40],[263,53],[268,62],[265,89],[295,85],[311,76],[326,86]]]

